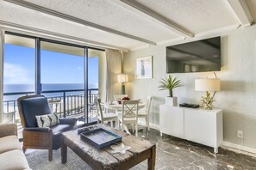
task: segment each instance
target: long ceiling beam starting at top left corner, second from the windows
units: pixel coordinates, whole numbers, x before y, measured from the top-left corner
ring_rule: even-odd
[[[134,36],[134,35],[131,35],[131,34],[128,34],[128,33],[123,33],[123,32],[117,31],[117,30],[109,28],[109,27],[104,27],[104,26],[98,25],[96,23],[92,23],[90,21],[84,21],[84,20],[79,19],[77,17],[74,17],[72,15],[66,15],[64,13],[60,13],[60,12],[54,11],[52,9],[47,9],[47,8],[41,7],[39,5],[36,5],[34,3],[28,3],[28,2],[25,2],[25,1],[22,1],[22,0],[3,0],[3,1],[9,2],[9,3],[14,3],[16,5],[19,5],[19,6],[28,8],[28,9],[33,9],[33,10],[41,12],[43,14],[53,15],[53,16],[59,17],[61,19],[67,20],[67,21],[72,21],[72,22],[75,22],[75,23],[78,23],[78,24],[82,24],[86,27],[93,27],[93,28],[96,28],[98,30],[102,30],[102,31],[105,31],[105,32],[108,32],[108,33],[114,33],[116,35],[120,35],[120,36],[126,37],[128,39],[135,39],[135,40],[138,40],[140,42],[144,42],[146,44],[156,46],[156,43],[151,41],[151,40],[142,39],[140,37],[137,37],[137,36]]]

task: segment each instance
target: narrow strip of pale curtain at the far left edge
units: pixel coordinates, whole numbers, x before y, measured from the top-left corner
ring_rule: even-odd
[[[3,49],[4,30],[0,29],[0,124],[3,122]]]

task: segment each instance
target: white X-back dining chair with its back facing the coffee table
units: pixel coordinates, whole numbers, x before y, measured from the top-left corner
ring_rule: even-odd
[[[122,115],[119,116],[119,121],[122,124],[122,131],[126,128],[125,124],[135,124],[135,136],[138,137],[138,106],[139,100],[123,100]]]

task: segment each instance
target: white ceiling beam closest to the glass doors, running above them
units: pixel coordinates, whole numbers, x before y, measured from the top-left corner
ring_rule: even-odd
[[[104,44],[101,42],[93,41],[90,39],[82,39],[82,38],[73,37],[70,35],[62,34],[62,33],[53,33],[50,31],[46,31],[46,30],[42,30],[34,27],[22,26],[22,25],[7,22],[7,21],[0,20],[0,28],[3,28],[9,32],[23,33],[23,34],[28,34],[35,37],[45,38],[45,39],[67,41],[69,43],[78,44],[82,46],[96,47],[101,49],[114,49],[114,50],[120,50],[123,52],[129,52],[127,48],[122,48],[120,46],[112,46],[112,45]]]

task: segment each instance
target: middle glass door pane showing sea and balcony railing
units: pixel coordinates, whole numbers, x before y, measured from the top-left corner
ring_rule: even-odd
[[[84,121],[84,48],[41,41],[41,94],[60,117]]]

